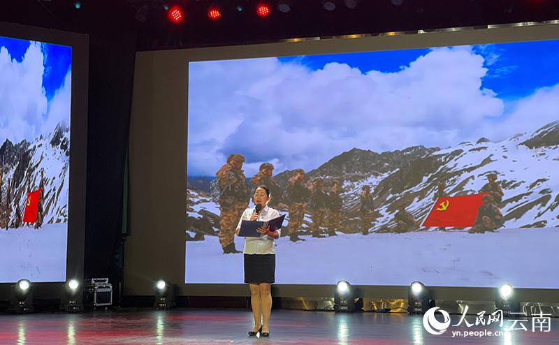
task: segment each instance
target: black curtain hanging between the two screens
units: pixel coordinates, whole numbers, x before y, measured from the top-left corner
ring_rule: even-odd
[[[115,302],[122,282],[124,174],[135,55],[134,31],[91,37],[85,277],[108,277]]]

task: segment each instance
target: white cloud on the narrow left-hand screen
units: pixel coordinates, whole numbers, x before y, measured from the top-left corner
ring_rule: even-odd
[[[0,48],[0,140],[34,140],[48,135],[61,121],[69,122],[71,73],[48,102],[43,89],[44,55],[41,43],[32,42],[21,62]],[[1,143],[0,143],[1,145]]]

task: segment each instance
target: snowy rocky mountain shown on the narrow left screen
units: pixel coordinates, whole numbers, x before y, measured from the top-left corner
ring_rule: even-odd
[[[68,126],[59,124],[48,136],[41,135],[32,142],[3,141],[0,147],[3,172],[0,205],[1,211],[5,212],[9,189],[10,224],[15,219],[16,205],[23,214],[27,191],[38,189],[41,170],[45,179],[44,223],[68,222],[69,134]]]

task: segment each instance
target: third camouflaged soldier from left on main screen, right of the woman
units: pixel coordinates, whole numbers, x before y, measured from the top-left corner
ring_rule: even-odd
[[[286,200],[289,200],[289,224],[287,229],[292,242],[304,241],[298,237],[297,231],[305,219],[305,203],[310,196],[310,191],[305,186],[305,171],[293,170],[293,175],[287,182]]]

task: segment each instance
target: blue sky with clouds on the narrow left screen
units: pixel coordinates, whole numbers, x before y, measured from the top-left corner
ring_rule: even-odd
[[[71,47],[0,36],[0,140],[19,142],[69,124]]]

